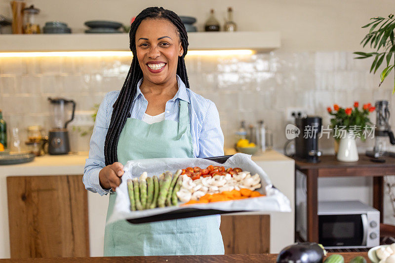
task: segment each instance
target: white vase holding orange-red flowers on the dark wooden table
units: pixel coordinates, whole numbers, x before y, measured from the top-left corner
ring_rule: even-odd
[[[361,109],[358,107],[359,102],[355,101],[354,108],[342,108],[337,104],[333,105],[333,109],[327,108],[328,113],[333,116],[330,119],[330,128],[333,130],[335,138],[335,152],[338,161],[358,161],[356,138],[365,141],[372,130],[369,113],[373,112],[375,107],[370,103],[363,104]]]

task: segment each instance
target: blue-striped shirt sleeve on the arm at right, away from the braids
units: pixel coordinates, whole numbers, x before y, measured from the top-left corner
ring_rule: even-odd
[[[201,123],[199,136],[199,158],[223,156],[224,134],[221,130],[219,113],[214,102],[210,100],[206,116]]]

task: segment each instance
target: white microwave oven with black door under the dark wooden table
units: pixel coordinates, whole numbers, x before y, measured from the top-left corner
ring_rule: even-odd
[[[307,240],[305,204],[298,205],[297,230]],[[360,201],[318,202],[318,243],[327,249],[380,245],[380,211]]]

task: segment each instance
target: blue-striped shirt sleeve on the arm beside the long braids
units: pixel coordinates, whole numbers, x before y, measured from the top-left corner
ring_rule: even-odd
[[[101,196],[110,193],[100,186],[99,172],[106,165],[104,159],[104,142],[108,131],[110,118],[108,114],[108,94],[104,97],[96,115],[92,137],[89,142],[89,158],[85,161],[82,182],[85,189]]]

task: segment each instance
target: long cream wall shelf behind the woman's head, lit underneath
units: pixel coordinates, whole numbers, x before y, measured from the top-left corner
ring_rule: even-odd
[[[280,47],[279,32],[191,32],[189,50],[250,49],[269,52]],[[128,51],[129,34],[3,34],[0,52]]]

